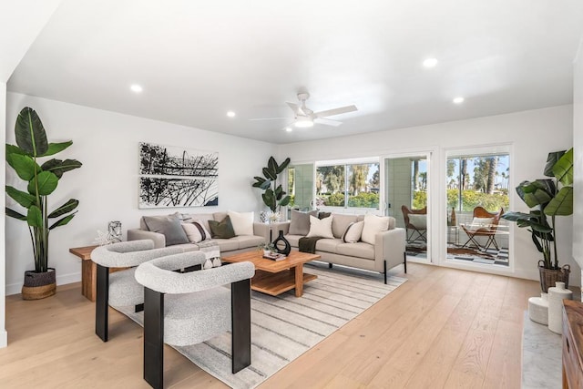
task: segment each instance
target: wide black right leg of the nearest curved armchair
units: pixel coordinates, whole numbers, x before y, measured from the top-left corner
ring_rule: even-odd
[[[251,279],[230,284],[232,372],[251,364]]]

